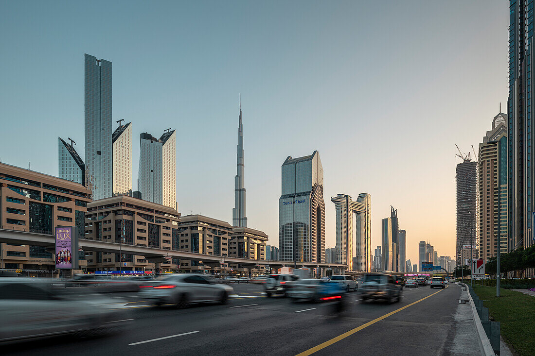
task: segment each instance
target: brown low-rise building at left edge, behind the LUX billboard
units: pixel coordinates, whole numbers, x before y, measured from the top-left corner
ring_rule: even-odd
[[[0,228],[52,235],[57,226],[77,226],[83,237],[91,191],[79,183],[0,163]],[[22,275],[51,276],[52,253],[43,246],[1,244],[0,268]],[[82,256],[79,266],[85,268]]]

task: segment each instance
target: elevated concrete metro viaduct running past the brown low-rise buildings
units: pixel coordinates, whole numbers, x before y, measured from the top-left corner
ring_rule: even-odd
[[[17,245],[32,245],[53,247],[55,245],[55,237],[48,234],[30,233],[28,231],[9,230],[0,228],[0,242],[17,244]],[[137,256],[144,256],[149,262],[159,264],[169,260],[169,258],[178,258],[181,260],[202,261],[203,265],[209,267],[217,267],[224,262],[225,264],[240,264],[243,268],[255,268],[257,266],[267,265],[270,268],[278,269],[281,267],[309,267],[309,268],[339,268],[340,273],[347,268],[343,264],[332,263],[318,263],[318,262],[302,262],[302,261],[268,261],[268,260],[251,260],[247,258],[214,256],[210,254],[202,254],[196,252],[185,252],[175,250],[164,250],[156,247],[134,246],[127,244],[119,244],[114,242],[104,242],[97,240],[90,240],[86,238],[78,239],[78,247],[84,251],[94,252],[112,252],[112,253],[128,253]],[[322,273],[323,274],[323,273]]]

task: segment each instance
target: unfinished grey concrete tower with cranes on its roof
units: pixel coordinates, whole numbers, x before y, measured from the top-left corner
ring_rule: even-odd
[[[470,258],[476,243],[477,162],[465,159],[457,165],[457,264]],[[467,247],[467,248],[464,248]],[[477,257],[477,249],[473,249]]]

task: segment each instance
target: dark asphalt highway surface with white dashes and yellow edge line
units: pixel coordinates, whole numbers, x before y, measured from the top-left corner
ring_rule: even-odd
[[[461,289],[403,290],[399,303],[362,304],[349,294],[345,312],[332,304],[267,298],[258,285],[233,285],[228,304],[155,308],[135,293],[110,295],[133,319],[107,337],[56,337],[2,346],[12,355],[450,355]],[[427,298],[426,298],[427,297]],[[116,302],[115,302],[116,301]]]

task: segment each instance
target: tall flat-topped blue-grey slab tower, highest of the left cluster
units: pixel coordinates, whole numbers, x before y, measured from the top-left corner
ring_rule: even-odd
[[[85,156],[93,200],[113,193],[111,62],[85,55]]]

